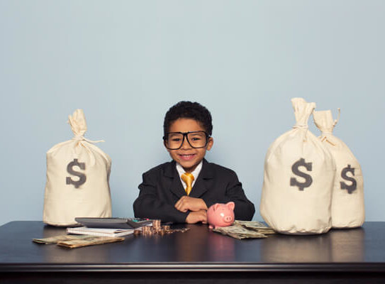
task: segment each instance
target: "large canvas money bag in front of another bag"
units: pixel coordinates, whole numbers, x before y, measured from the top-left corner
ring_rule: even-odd
[[[291,99],[296,124],[269,147],[264,160],[260,213],[282,234],[321,234],[330,217],[335,164],[323,143],[308,130],[316,107]]]

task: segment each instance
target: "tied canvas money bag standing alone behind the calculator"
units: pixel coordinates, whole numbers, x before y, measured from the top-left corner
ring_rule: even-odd
[[[74,138],[47,152],[43,222],[55,226],[77,224],[75,217],[111,217],[108,185],[111,158],[84,138],[82,109],[68,116]]]

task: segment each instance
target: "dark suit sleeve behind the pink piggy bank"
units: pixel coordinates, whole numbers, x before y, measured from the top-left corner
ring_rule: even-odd
[[[255,207],[250,200],[247,199],[242,189],[242,183],[238,180],[237,174],[232,170],[227,174],[225,196],[218,197],[218,200],[204,200],[207,207],[215,203],[227,203],[233,201],[235,203],[234,215],[236,220],[250,221],[255,213]]]

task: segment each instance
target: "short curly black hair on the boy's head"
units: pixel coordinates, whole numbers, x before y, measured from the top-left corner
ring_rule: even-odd
[[[211,114],[206,107],[203,107],[198,102],[178,102],[170,107],[164,116],[163,132],[166,136],[169,132],[169,126],[177,119],[194,119],[198,121],[203,129],[211,136],[213,132],[213,124]]]

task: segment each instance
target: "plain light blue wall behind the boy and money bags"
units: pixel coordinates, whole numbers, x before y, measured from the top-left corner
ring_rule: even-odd
[[[367,221],[385,221],[384,14],[381,0],[0,0],[0,224],[42,219],[45,152],[72,138],[77,108],[113,160],[113,215],[132,216],[141,174],[169,160],[162,122],[180,100],[211,110],[207,158],[258,209],[291,97],[341,108],[335,135],[362,165]]]

